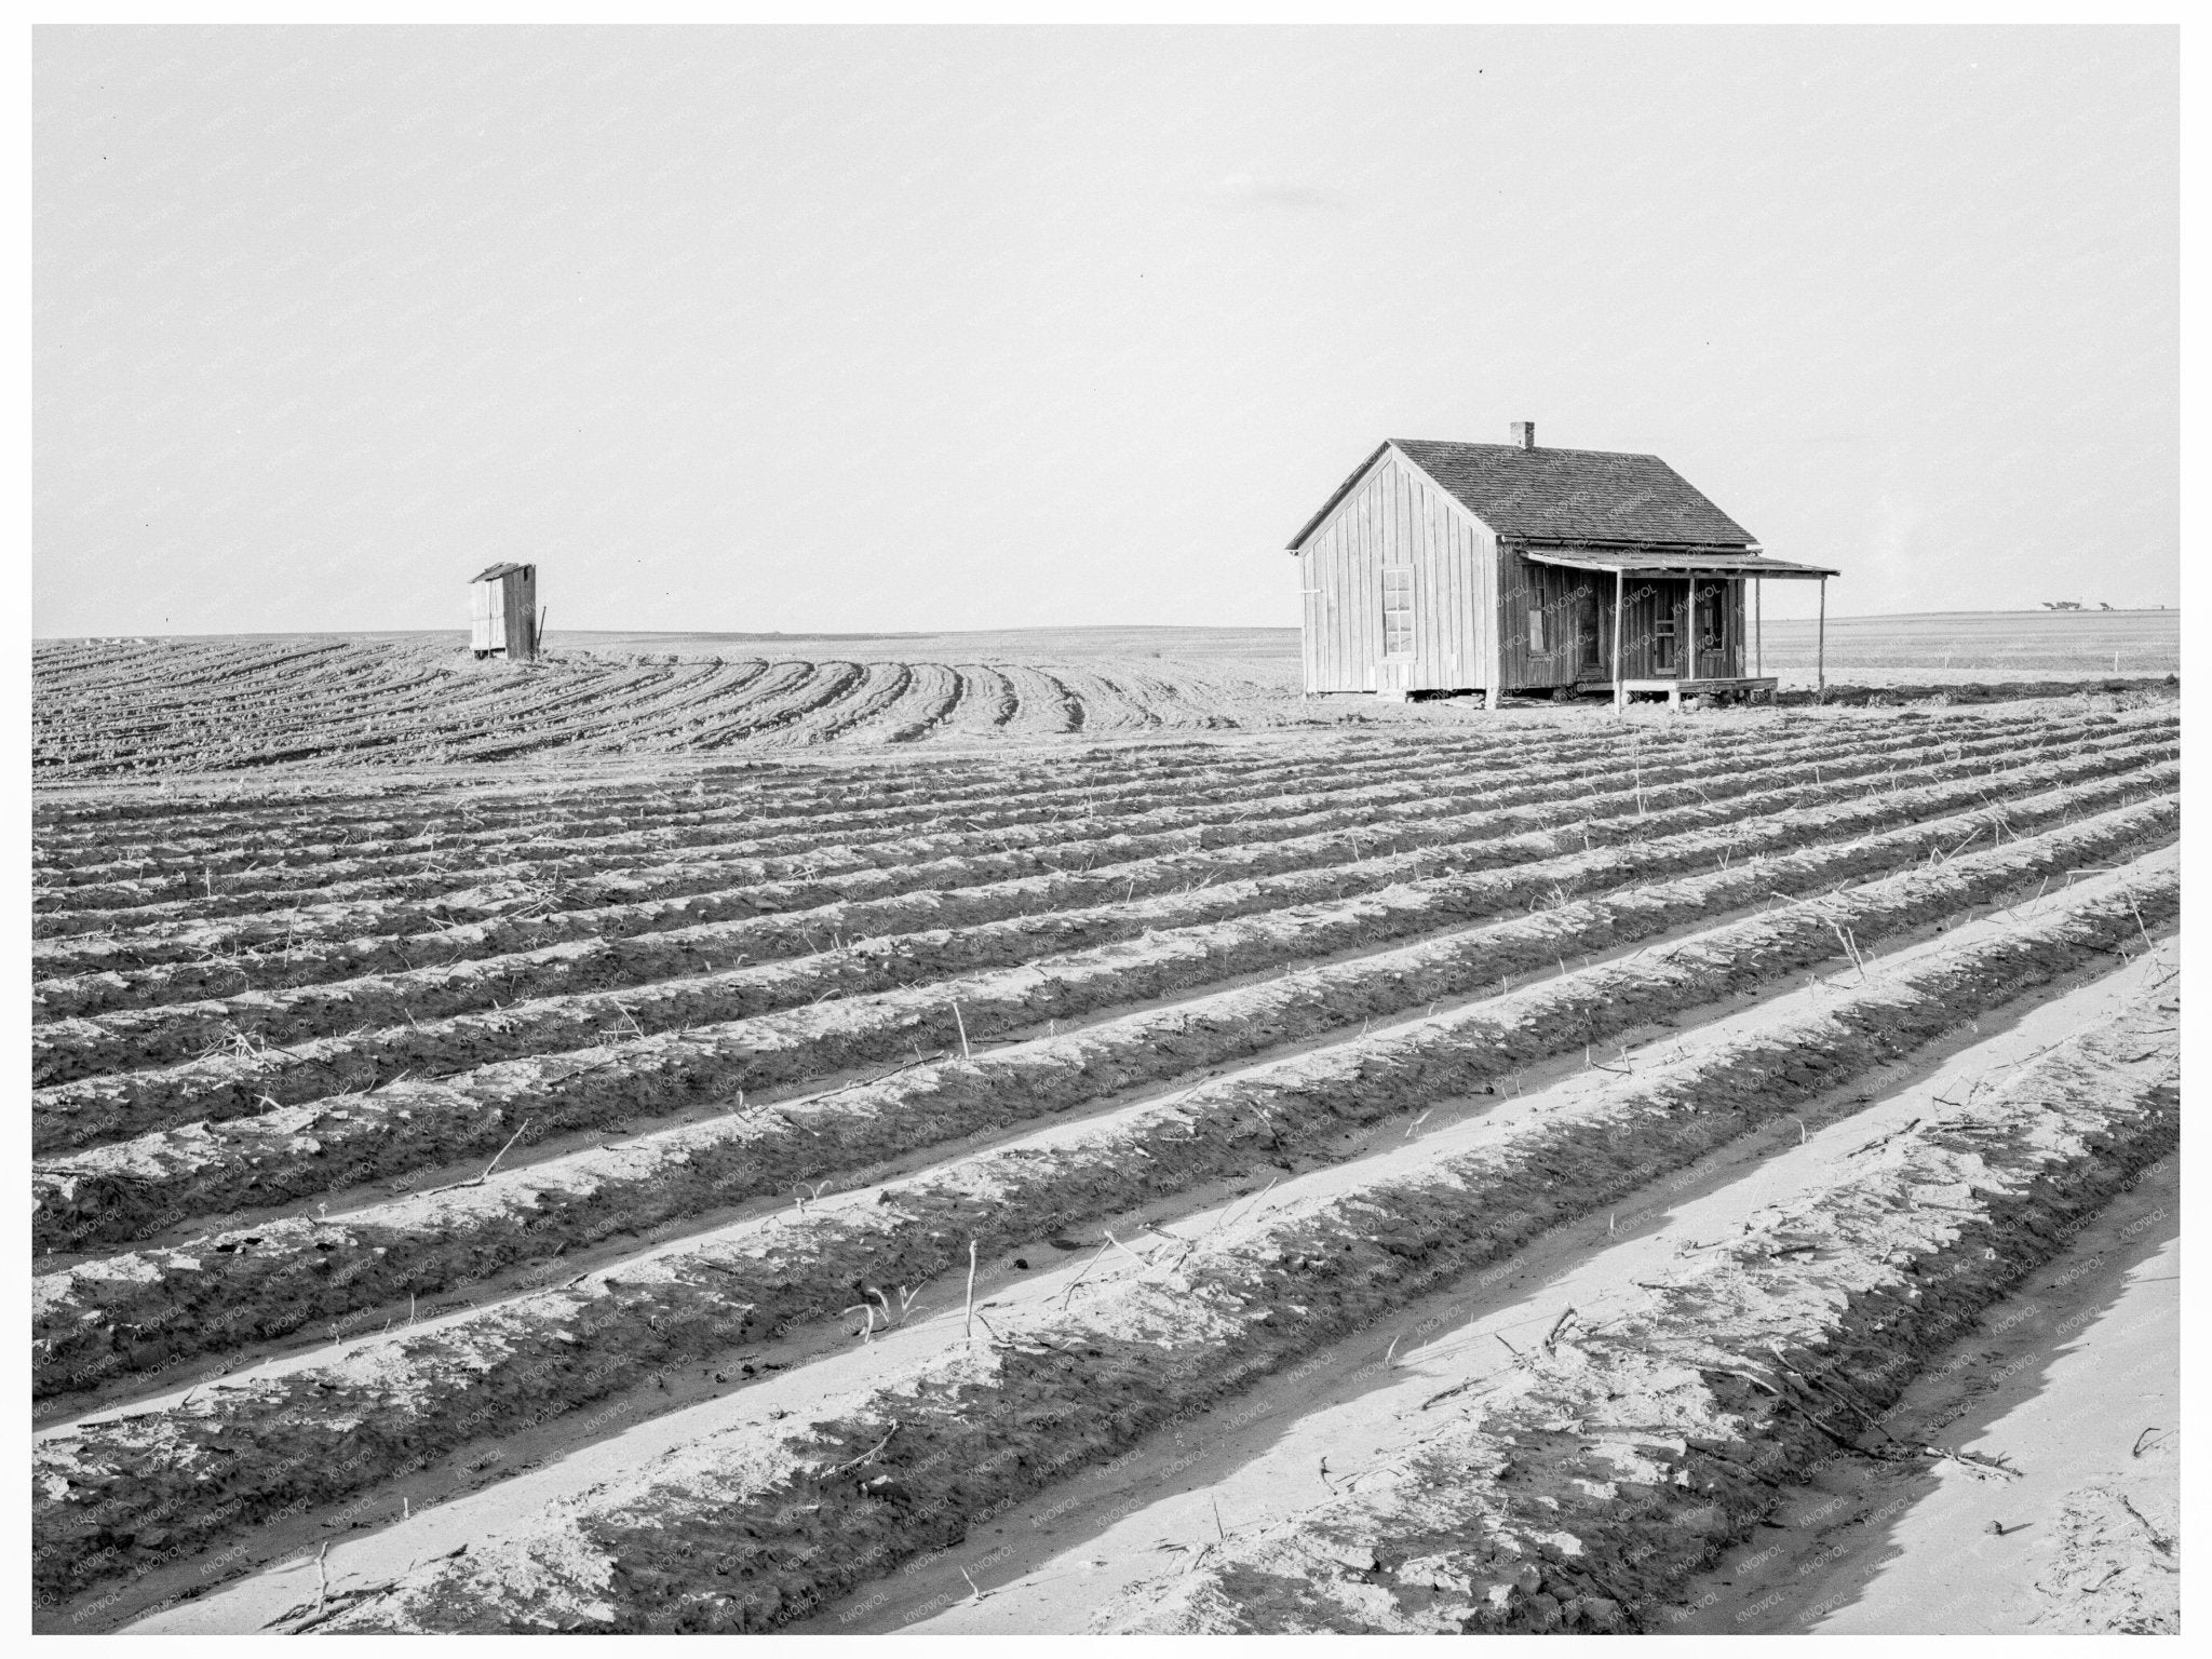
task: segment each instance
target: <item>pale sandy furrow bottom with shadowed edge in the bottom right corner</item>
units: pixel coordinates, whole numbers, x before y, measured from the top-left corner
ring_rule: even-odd
[[[1834,1464],[1688,1584],[1670,1628],[2179,1632],[2179,1285],[2181,1172],[2166,1161],[1891,1409],[1900,1436],[1980,1462]]]

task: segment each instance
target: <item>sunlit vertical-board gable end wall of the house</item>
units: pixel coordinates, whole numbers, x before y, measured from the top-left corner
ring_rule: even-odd
[[[1480,690],[1491,538],[1400,456],[1385,456],[1298,553],[1310,692],[1376,690],[1383,566],[1413,566],[1413,690]]]

